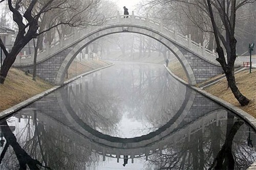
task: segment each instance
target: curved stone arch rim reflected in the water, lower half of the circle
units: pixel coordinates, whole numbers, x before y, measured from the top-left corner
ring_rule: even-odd
[[[65,90],[62,88],[61,90]],[[135,152],[136,149],[141,147],[146,147],[151,145],[152,143],[159,142],[163,138],[166,137],[170,132],[172,132],[179,123],[182,122],[187,112],[190,110],[193,105],[196,92],[191,90],[190,88],[186,88],[185,100],[183,101],[178,112],[170,119],[164,126],[156,130],[155,132],[151,132],[147,135],[142,135],[140,137],[134,138],[119,138],[112,137],[110,135],[102,134],[90,126],[86,125],[82,122],[82,120],[75,114],[72,107],[70,106],[65,92],[61,92],[61,90],[56,91],[56,96],[58,100],[58,104],[65,116],[68,118],[69,122],[72,126],[75,127],[80,133],[92,138],[92,140],[100,145],[104,145],[105,147],[111,147],[114,149],[126,149],[126,152]]]

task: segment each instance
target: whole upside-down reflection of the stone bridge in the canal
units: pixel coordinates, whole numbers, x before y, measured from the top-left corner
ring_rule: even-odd
[[[80,122],[79,117],[72,112],[66,96],[62,96],[61,92],[50,94],[49,98],[50,100],[40,100],[32,104],[31,109],[21,110],[20,114],[30,111],[33,113],[35,109],[39,122],[47,123],[54,129],[61,128],[67,135],[76,132],[75,134],[88,141],[92,151],[103,155],[103,160],[108,156],[119,161],[123,158],[122,155],[129,155],[132,162],[134,158],[142,156],[147,159],[156,151],[175,145],[179,141],[189,141],[191,135],[198,131],[203,132],[205,127],[212,123],[218,126],[219,121],[227,117],[225,110],[220,110],[218,105],[187,88],[180,110],[163,127],[140,137],[118,138],[104,135]]]

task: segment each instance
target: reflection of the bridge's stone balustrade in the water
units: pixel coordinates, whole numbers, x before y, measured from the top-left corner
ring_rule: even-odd
[[[21,112],[23,112],[23,110]],[[27,110],[26,110],[26,113],[28,113]],[[130,149],[130,148],[113,148],[106,145],[102,145],[99,142],[95,141],[96,138],[93,135],[88,136],[84,132],[81,132],[79,130],[77,131],[77,129],[73,130],[68,125],[65,125],[59,122],[59,120],[56,120],[55,118],[50,117],[50,115],[48,114],[42,113],[40,111],[38,111],[37,113],[38,113],[37,117],[40,121],[47,122],[54,129],[57,129],[59,128],[59,126],[61,126],[61,128],[66,130],[65,131],[66,135],[69,135],[75,132],[81,138],[86,137],[83,140],[86,140],[88,144],[90,143],[89,145],[93,152],[97,152],[103,155],[104,157],[106,156],[106,157],[118,158],[118,159],[119,158],[122,159],[121,155],[129,155],[129,158],[131,159],[145,156],[147,159],[147,156],[150,156],[156,153],[157,151],[166,149],[172,145],[176,145],[179,141],[187,140],[189,142],[190,136],[193,135],[194,133],[200,130],[204,132],[205,127],[207,127],[208,125],[211,125],[212,123],[216,123],[217,126],[219,126],[220,120],[227,119],[227,111],[224,109],[217,109],[215,111],[206,113],[205,115],[197,118],[193,122],[187,125],[184,125],[179,129],[170,131],[170,133],[166,134],[161,140],[157,142],[147,144],[141,148]]]

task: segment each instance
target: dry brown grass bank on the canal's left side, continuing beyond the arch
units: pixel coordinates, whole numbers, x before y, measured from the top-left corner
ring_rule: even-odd
[[[72,69],[76,68],[76,75],[78,76],[84,72],[88,72],[105,65],[109,65],[109,63],[100,60],[77,62],[76,67],[70,67],[68,72],[73,73],[74,70]],[[74,77],[74,75],[68,75],[68,78],[72,77]],[[53,86],[53,84],[50,84],[40,78],[36,78],[36,81],[33,81],[31,74],[25,74],[22,70],[11,68],[8,72],[5,83],[0,84],[0,112],[23,102],[36,94],[46,91]]]

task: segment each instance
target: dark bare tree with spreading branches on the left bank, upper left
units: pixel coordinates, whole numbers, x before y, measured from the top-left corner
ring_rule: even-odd
[[[22,48],[32,38],[37,37],[59,25],[68,25],[71,27],[97,24],[97,15],[94,7],[100,0],[89,1],[72,1],[72,0],[6,0],[0,3],[7,2],[9,10],[13,14],[13,20],[18,26],[18,33],[13,44],[12,50],[8,53],[6,47],[0,39],[0,46],[6,55],[3,66],[0,71],[0,83],[3,84],[8,71],[14,63],[16,56]],[[40,16],[47,12],[53,14],[53,18],[48,23],[48,27],[38,32],[38,22]],[[53,24],[52,24],[53,23]]]

